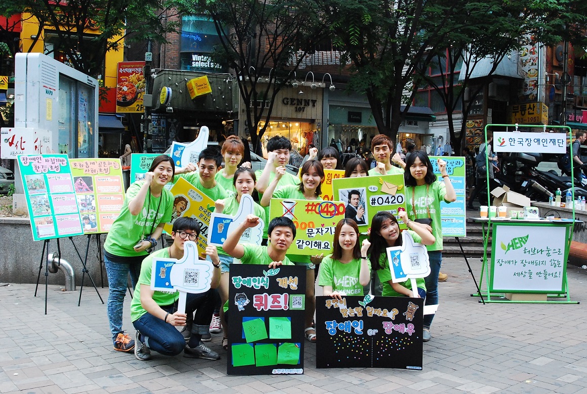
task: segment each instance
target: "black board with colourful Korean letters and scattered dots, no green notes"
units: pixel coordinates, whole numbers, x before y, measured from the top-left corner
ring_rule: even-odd
[[[408,297],[316,297],[316,367],[421,370],[423,304]]]

